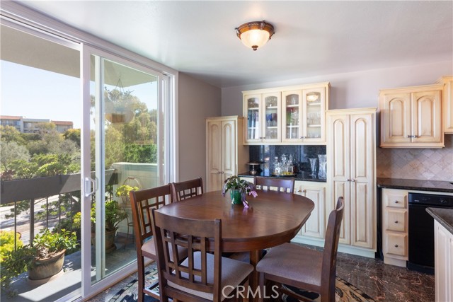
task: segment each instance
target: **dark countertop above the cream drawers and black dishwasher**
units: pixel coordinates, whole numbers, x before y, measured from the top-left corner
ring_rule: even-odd
[[[440,180],[404,180],[398,178],[377,178],[377,187],[453,193],[453,185],[450,182]]]

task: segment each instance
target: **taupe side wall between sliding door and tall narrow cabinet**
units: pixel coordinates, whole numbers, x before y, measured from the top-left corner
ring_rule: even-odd
[[[220,88],[180,73],[178,79],[179,181],[206,177],[206,117],[221,115]]]

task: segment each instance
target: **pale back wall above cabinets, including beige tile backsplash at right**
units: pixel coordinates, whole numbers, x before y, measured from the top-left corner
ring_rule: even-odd
[[[453,62],[440,62],[223,88],[222,115],[242,115],[241,91],[246,90],[328,81],[331,83],[329,109],[377,108],[379,89],[433,84],[441,76],[452,74]],[[446,135],[443,149],[378,147],[377,177],[452,181],[452,141],[453,136]]]

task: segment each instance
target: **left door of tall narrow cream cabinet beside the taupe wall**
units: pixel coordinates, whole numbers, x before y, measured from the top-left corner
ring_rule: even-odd
[[[208,173],[207,192],[220,190],[222,187],[222,130],[221,122],[212,121],[207,124],[207,161]]]

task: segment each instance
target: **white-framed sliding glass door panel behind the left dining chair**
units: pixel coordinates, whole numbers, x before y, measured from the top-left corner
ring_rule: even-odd
[[[84,296],[136,269],[130,190],[164,183],[162,74],[84,47]],[[89,81],[88,81],[89,79]],[[89,226],[89,227],[88,227]],[[88,260],[89,259],[89,260]],[[131,265],[132,264],[132,265]]]

